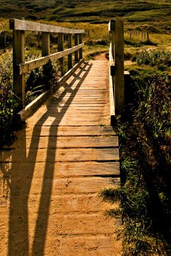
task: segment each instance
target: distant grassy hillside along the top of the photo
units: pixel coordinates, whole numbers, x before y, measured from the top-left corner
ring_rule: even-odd
[[[0,17],[25,17],[31,20],[57,22],[106,23],[113,17],[125,22],[159,22],[156,26],[170,27],[171,0],[0,0]]]

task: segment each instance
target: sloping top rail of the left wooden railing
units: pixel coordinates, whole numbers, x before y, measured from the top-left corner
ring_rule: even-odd
[[[79,34],[84,33],[84,29],[69,29],[58,26],[51,26],[47,24],[41,24],[37,22],[31,22],[27,20],[10,19],[10,29],[24,30],[24,31],[40,31],[50,33],[68,33]]]

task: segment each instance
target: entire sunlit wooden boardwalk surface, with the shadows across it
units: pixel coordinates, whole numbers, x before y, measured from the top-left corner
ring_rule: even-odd
[[[121,255],[120,221],[98,196],[120,185],[108,70],[82,64],[0,156],[1,256]]]

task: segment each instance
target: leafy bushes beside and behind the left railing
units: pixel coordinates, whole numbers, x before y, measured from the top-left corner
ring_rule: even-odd
[[[36,58],[38,56],[34,56]],[[33,57],[32,57],[33,58]],[[30,56],[26,56],[30,60]],[[36,99],[43,90],[57,88],[60,77],[57,63],[49,63],[50,72],[46,68],[36,68],[26,74],[26,105]],[[19,111],[17,96],[13,94],[12,52],[6,51],[0,56],[0,148],[13,140],[13,121]],[[47,76],[48,75],[48,76]],[[49,83],[50,81],[50,83]],[[15,127],[16,129],[16,127]]]

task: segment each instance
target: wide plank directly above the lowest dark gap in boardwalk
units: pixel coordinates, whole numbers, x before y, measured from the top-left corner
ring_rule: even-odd
[[[31,169],[31,163],[11,163],[9,166],[13,169],[19,170],[20,178],[25,178],[27,175],[27,170]],[[6,168],[6,164],[1,164],[3,170]],[[54,179],[59,177],[82,177],[82,176],[110,176],[110,175],[120,175],[119,162],[61,162],[61,163],[34,163],[34,177],[40,179],[40,177],[45,177],[45,179],[50,179],[50,170],[54,170]],[[46,172],[45,172],[46,170]],[[17,177],[14,177],[17,179]]]

